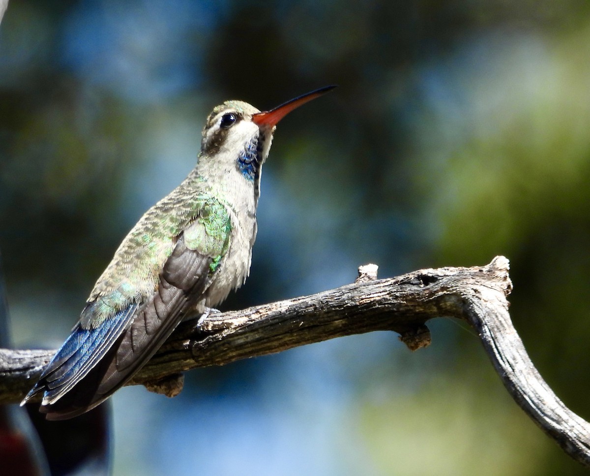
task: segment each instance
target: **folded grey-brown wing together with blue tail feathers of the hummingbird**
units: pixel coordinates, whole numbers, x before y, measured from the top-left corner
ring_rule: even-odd
[[[183,312],[203,299],[217,272],[211,270],[213,259],[189,249],[181,234],[155,294],[95,330],[74,327],[25,400],[44,392],[40,411],[48,420],[72,418],[106,400],[156,353]]]

